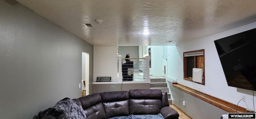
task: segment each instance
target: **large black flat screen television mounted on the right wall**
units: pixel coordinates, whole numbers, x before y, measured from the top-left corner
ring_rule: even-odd
[[[214,43],[228,86],[256,91],[256,29]]]

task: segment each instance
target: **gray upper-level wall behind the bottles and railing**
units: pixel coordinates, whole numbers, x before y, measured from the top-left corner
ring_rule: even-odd
[[[130,53],[130,58],[139,58],[139,46],[119,46],[119,55],[125,58],[126,53]],[[139,60],[132,59],[134,61],[134,69],[138,70]]]

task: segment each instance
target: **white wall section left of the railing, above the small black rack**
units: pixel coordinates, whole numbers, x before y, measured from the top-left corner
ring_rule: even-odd
[[[111,81],[117,81],[118,51],[117,46],[94,46],[93,81],[99,76],[111,76]]]

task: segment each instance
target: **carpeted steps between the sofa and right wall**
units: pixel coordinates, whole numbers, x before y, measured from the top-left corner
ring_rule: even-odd
[[[162,90],[162,92],[167,92],[169,104],[172,105],[171,94],[169,93],[169,88],[167,87],[165,78],[152,78],[150,79],[150,89]]]

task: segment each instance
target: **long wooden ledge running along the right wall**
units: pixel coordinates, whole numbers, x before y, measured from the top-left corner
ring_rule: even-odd
[[[236,105],[233,104],[233,103],[230,103],[228,101],[225,101],[225,100],[222,100],[222,99],[219,99],[219,98],[216,98],[216,97],[213,97],[213,96],[210,96],[208,94],[205,94],[205,93],[202,93],[202,92],[199,92],[197,90],[194,90],[192,88],[189,88],[187,86],[184,86],[182,84],[172,84],[173,87],[175,88],[178,88],[192,96],[195,96],[196,98],[199,98],[199,99],[202,99],[212,105],[215,105],[216,107],[219,107],[220,109],[223,109],[229,113],[231,112],[236,112]],[[239,113],[245,113],[246,112],[246,109],[244,107],[240,107],[238,106],[237,107],[237,112]]]

